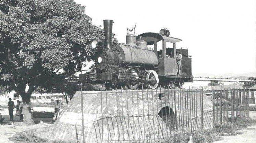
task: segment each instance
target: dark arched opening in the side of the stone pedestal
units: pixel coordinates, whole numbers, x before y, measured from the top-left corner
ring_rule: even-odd
[[[158,112],[158,115],[167,124],[167,127],[169,127],[171,130],[175,129],[175,123],[177,122],[177,120],[172,108],[170,108],[169,106],[163,107]]]

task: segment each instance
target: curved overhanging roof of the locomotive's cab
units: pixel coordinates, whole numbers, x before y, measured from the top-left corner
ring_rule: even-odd
[[[144,41],[146,41],[148,43],[148,45],[153,45],[154,41],[158,42],[161,40],[166,40],[167,42],[171,42],[171,43],[176,43],[176,42],[182,41],[181,39],[178,39],[178,38],[173,38],[173,37],[169,37],[169,36],[162,35],[159,33],[152,33],[152,32],[142,33],[142,34],[138,35],[136,37],[136,41],[139,40],[140,36]]]

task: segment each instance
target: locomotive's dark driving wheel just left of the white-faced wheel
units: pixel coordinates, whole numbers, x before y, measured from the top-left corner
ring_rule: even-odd
[[[127,86],[129,89],[137,89],[139,86],[139,83],[136,81],[133,81],[133,79],[139,79],[139,73],[136,69],[134,68],[129,68],[126,70],[127,76],[128,76],[128,83]]]

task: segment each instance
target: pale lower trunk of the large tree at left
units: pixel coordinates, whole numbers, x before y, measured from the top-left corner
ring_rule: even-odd
[[[31,95],[28,96],[27,94],[25,94],[23,96],[21,95],[21,97],[22,97],[22,102],[23,102],[23,109],[22,109],[23,116],[24,116],[23,124],[34,125],[35,122],[33,120],[33,115],[31,112],[32,104],[30,103]]]

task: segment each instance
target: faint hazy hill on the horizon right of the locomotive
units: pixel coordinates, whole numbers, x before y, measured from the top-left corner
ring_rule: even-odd
[[[226,74],[198,73],[198,74],[193,74],[193,77],[248,79],[249,77],[256,77],[256,72],[248,72],[248,73],[242,73],[242,74],[233,74],[233,73],[226,73]]]

